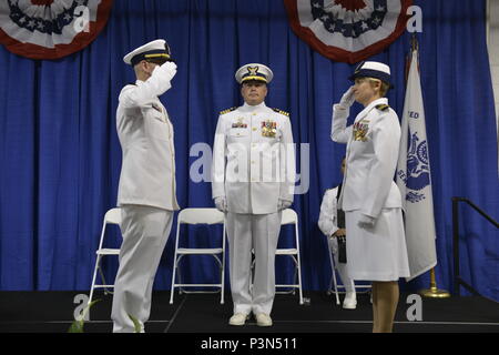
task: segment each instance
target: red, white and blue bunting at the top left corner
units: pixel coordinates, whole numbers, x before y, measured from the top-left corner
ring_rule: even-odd
[[[1,0],[0,43],[18,55],[58,59],[89,45],[113,0]]]

